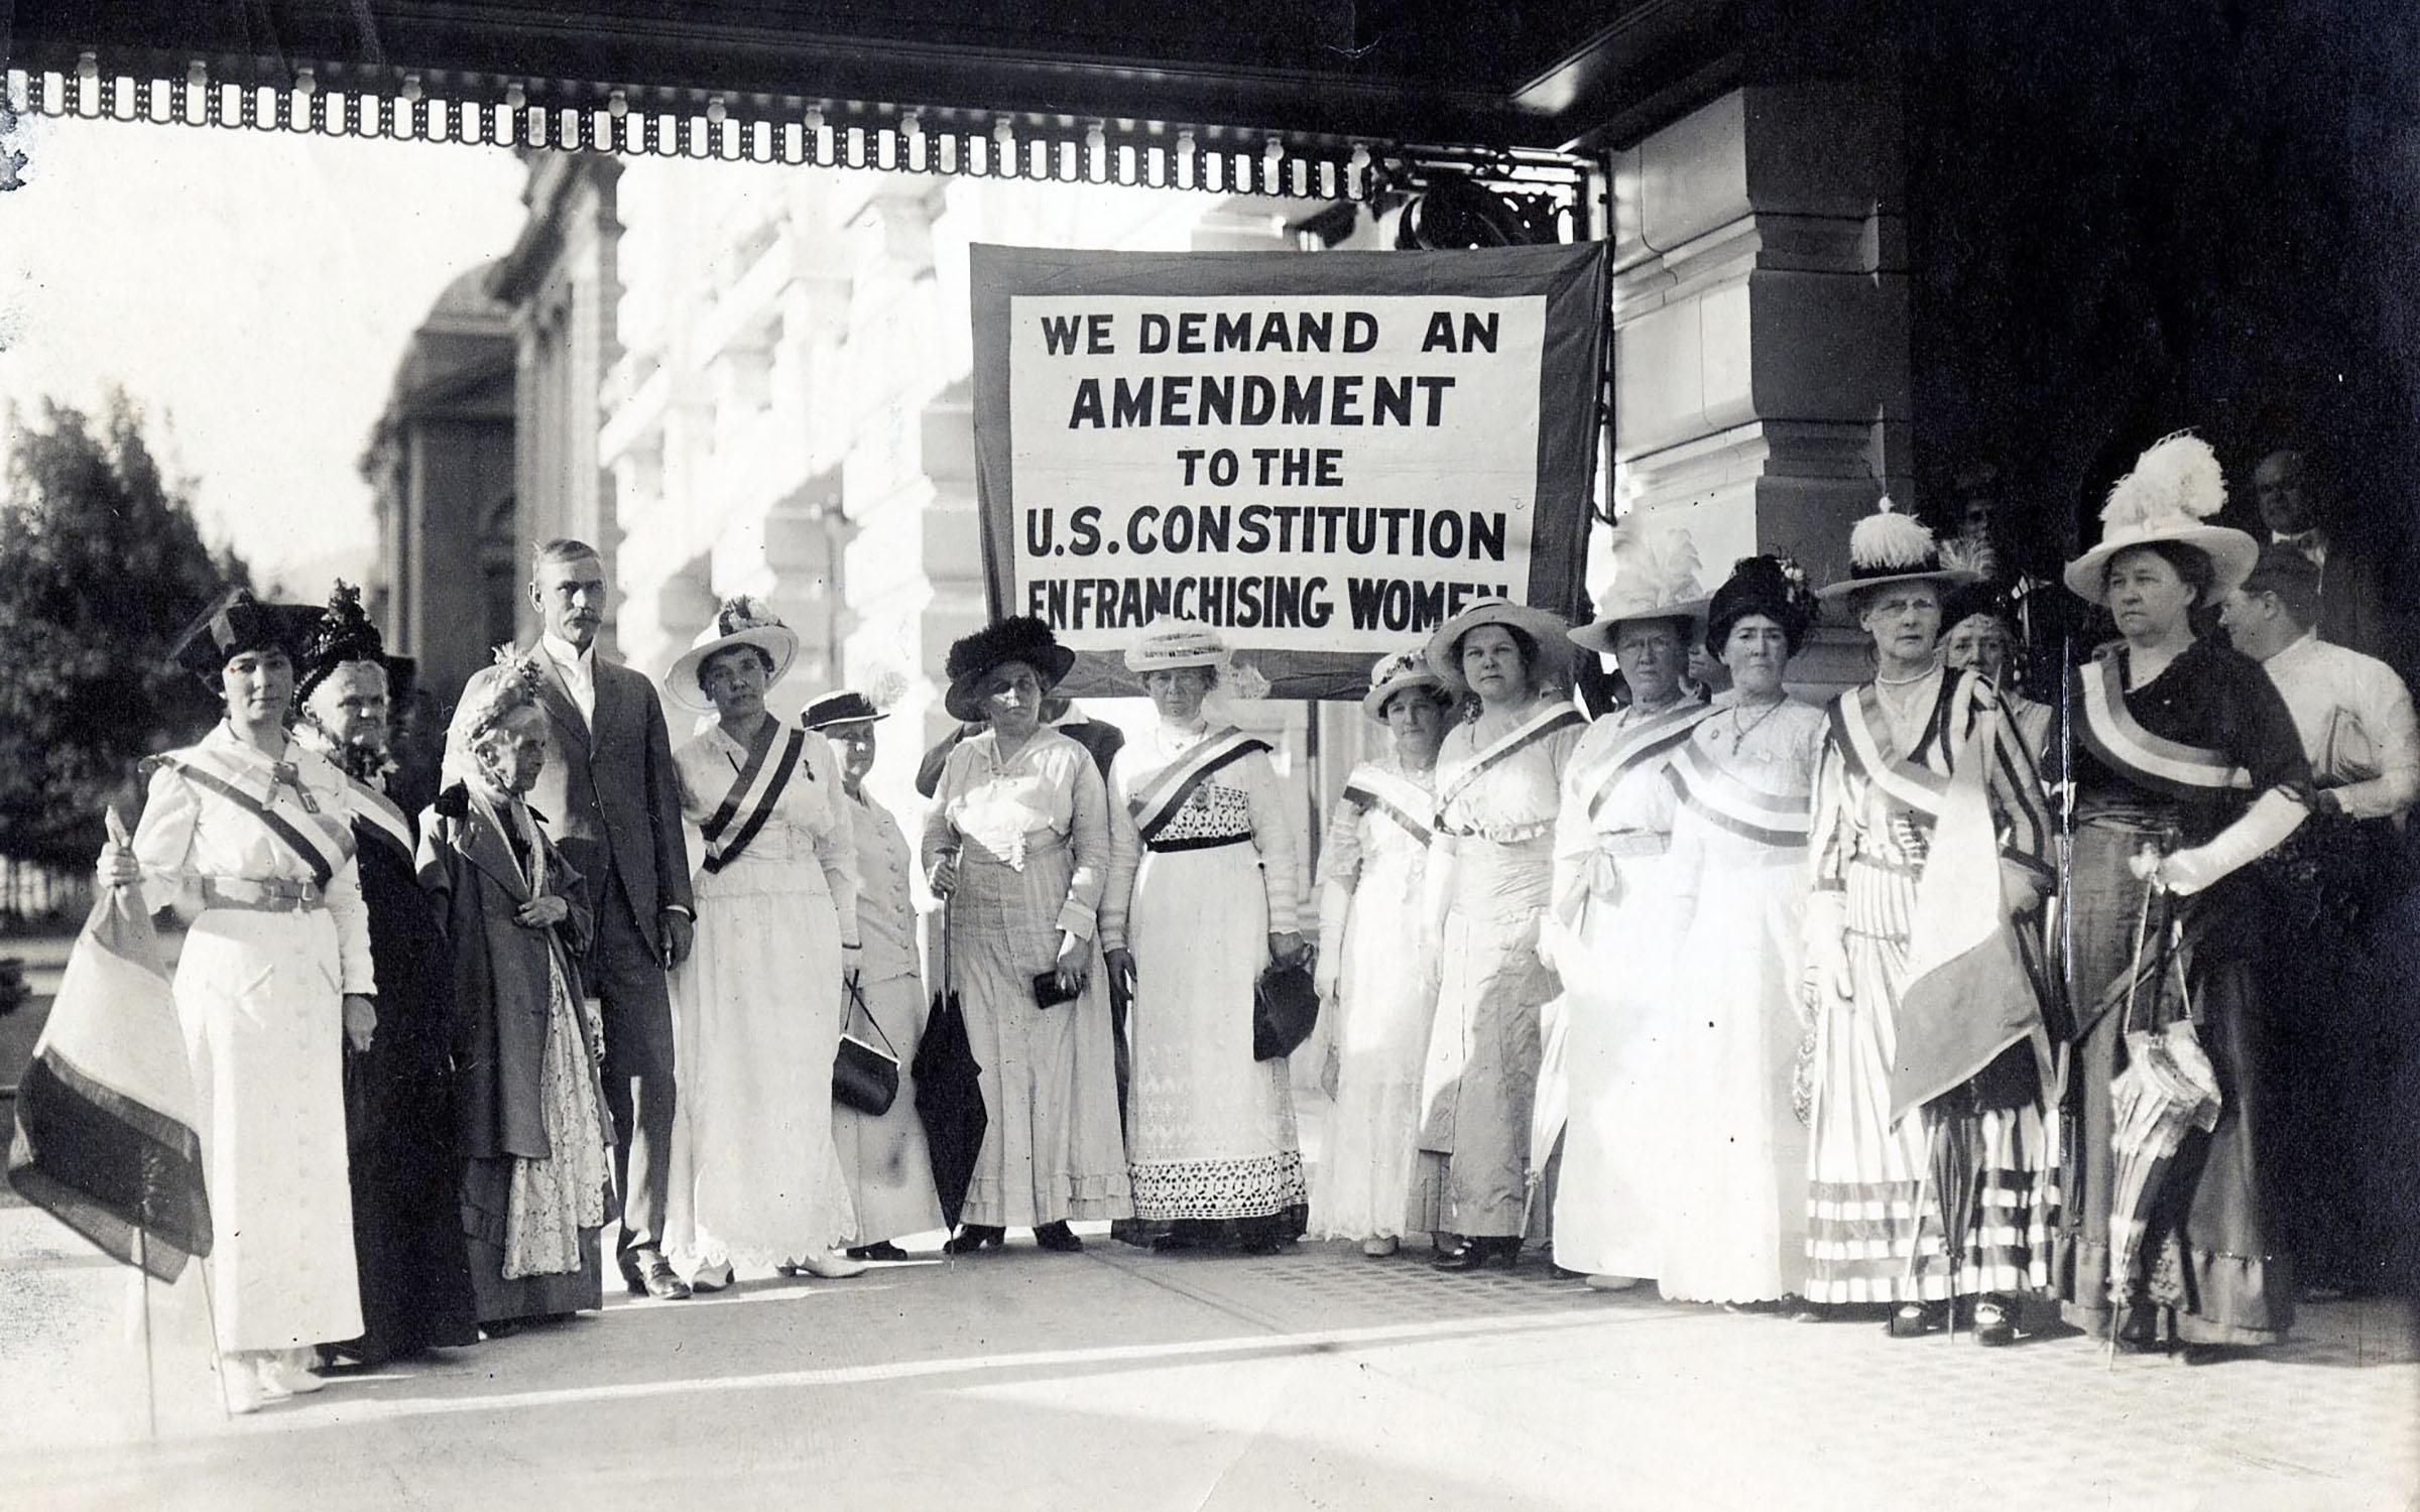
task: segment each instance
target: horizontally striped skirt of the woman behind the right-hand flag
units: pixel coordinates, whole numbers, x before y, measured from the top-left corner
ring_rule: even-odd
[[[1849,864],[1856,994],[1827,994],[1815,1018],[1808,1302],[1941,1302],[2050,1282],[2057,1188],[2040,1096],[1977,1110],[1960,1086],[1892,1123],[1892,1014],[1914,912],[1917,873]]]

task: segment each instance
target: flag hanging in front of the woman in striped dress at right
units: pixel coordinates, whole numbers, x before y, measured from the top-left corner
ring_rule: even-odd
[[[1892,1014],[1892,1123],[2042,1031],[2042,999],[2001,914],[1999,835],[1984,789],[2001,719],[1996,706],[1984,711],[1958,752],[1917,878],[1907,989]],[[2035,1038],[2035,1048],[2047,1055],[2047,1040]]]

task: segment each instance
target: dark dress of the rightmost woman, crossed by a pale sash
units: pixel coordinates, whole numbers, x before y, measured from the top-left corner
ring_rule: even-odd
[[[2134,689],[2125,689],[2125,646],[2105,646],[2076,670],[2069,757],[2076,808],[2067,985],[2079,1023],[2069,1098],[2079,1137],[2069,1139],[2059,1181],[2057,1287],[2067,1318],[2093,1331],[2110,1314],[2110,1077],[2125,1064],[2122,1014],[2108,997],[2132,970],[2147,888],[2127,861],[2144,842],[2197,847],[2258,793],[2306,791],[2311,779],[2294,719],[2260,663],[2195,641]],[[2127,750],[2108,750],[2088,697],[2115,699],[2105,706],[2132,726]],[[2202,767],[2202,781],[2180,779],[2195,772],[2195,752],[2214,767]],[[2209,777],[2229,767],[2246,781]],[[2183,1343],[2275,1343],[2294,1321],[2294,1268],[2272,1219],[2272,1028],[2255,980],[2260,893],[2253,868],[2241,868],[2178,900],[2193,941],[2185,989],[2224,1108],[2214,1132],[2188,1132],[2161,1185],[2130,1302],[2161,1309]]]

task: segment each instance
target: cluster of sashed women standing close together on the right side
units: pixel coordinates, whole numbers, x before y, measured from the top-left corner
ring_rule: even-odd
[[[2004,1345],[2052,1292],[2115,1347],[2277,1340],[2243,868],[2309,772],[2258,663],[2195,634],[2258,556],[2219,503],[2190,435],[2113,489],[2067,569],[2120,636],[2074,673],[2072,755],[1994,680],[2004,602],[1888,501],[1820,593],[1752,556],[1701,598],[1670,539],[1624,530],[1602,619],[1491,602],[1382,660],[1389,752],[1321,866],[1314,1229],[1370,1256],[1428,1229],[1450,1270],[1551,1234],[1592,1287],[1902,1338]],[[1873,675],[1817,706],[1784,673],[1825,602]],[[1692,641],[1728,689],[1692,687]],[[1629,692],[1585,728],[1556,692],[1575,646]],[[2122,1183],[2122,1072],[2154,1040],[2207,1055],[2214,1108]]]

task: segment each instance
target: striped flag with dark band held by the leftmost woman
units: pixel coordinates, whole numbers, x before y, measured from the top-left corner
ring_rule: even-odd
[[[116,810],[109,835],[126,842]],[[194,1081],[140,885],[109,888],[75,939],[17,1086],[7,1181],[160,1280],[211,1253]]]

